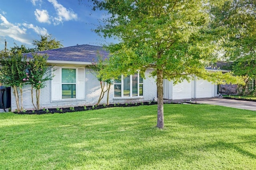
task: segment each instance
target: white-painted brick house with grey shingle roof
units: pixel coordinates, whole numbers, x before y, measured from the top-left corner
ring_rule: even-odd
[[[90,65],[97,62],[97,55],[108,57],[108,52],[100,46],[76,45],[47,51],[38,54],[48,54],[49,65],[53,65],[55,75],[47,86],[41,89],[41,108],[64,108],[83,105],[95,105],[101,89],[98,79],[92,74]],[[32,57],[31,53],[27,54]],[[214,70],[214,69],[212,69]],[[140,74],[130,75],[120,81],[115,81],[110,89],[110,103],[135,103],[152,101],[157,97],[156,81],[150,77],[152,69],[146,70],[145,79]],[[173,85],[172,81],[164,80],[165,99],[190,99],[216,97],[217,85],[205,80],[183,81]],[[106,103],[106,95],[101,103]],[[33,109],[31,103],[30,85],[23,88],[24,109]],[[12,95],[12,111],[16,109]]]

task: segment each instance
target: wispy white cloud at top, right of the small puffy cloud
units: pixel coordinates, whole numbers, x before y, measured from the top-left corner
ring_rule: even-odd
[[[57,0],[48,0],[51,2],[57,12],[57,16],[53,18],[54,25],[58,25],[63,21],[76,20],[77,14],[74,13],[73,10],[68,10],[61,4],[57,2]]]

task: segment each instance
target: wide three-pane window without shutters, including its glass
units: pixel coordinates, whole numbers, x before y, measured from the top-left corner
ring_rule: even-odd
[[[143,96],[143,78],[139,73],[115,80],[114,97],[138,96]]]

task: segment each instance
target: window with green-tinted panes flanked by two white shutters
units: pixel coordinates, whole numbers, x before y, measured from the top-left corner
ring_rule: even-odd
[[[52,100],[84,99],[84,68],[54,67]]]

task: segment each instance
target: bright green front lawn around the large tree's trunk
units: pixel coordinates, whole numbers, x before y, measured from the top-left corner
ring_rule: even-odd
[[[255,169],[256,112],[157,105],[0,114],[0,169]]]

